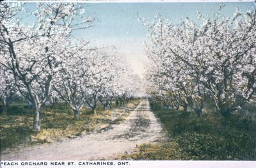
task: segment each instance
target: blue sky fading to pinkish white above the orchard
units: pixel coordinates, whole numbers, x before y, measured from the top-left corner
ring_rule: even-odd
[[[95,17],[94,26],[86,31],[77,31],[74,36],[90,40],[92,45],[114,45],[119,54],[127,57],[132,68],[139,75],[144,72],[145,57],[143,42],[147,42],[147,32],[138,15],[151,21],[160,13],[173,24],[179,24],[186,17],[197,20],[196,10],[210,17],[221,3],[83,3],[86,15]],[[225,3],[221,14],[232,17],[238,7],[241,11],[252,9],[253,2]],[[35,10],[35,3],[27,3],[27,8]]]

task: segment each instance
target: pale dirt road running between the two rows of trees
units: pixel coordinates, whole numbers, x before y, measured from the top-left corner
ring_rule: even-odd
[[[98,160],[131,152],[136,144],[154,142],[161,137],[161,125],[142,100],[127,119],[100,133],[64,142],[1,153],[1,160]]]

